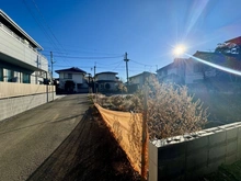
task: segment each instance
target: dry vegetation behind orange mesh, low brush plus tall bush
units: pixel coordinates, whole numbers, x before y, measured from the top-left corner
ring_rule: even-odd
[[[133,95],[104,97],[97,94],[97,103],[106,109],[124,112],[144,111],[145,91]],[[207,109],[194,101],[186,87],[162,83],[153,77],[146,81],[147,120],[150,139],[167,138],[199,131],[207,122]]]

